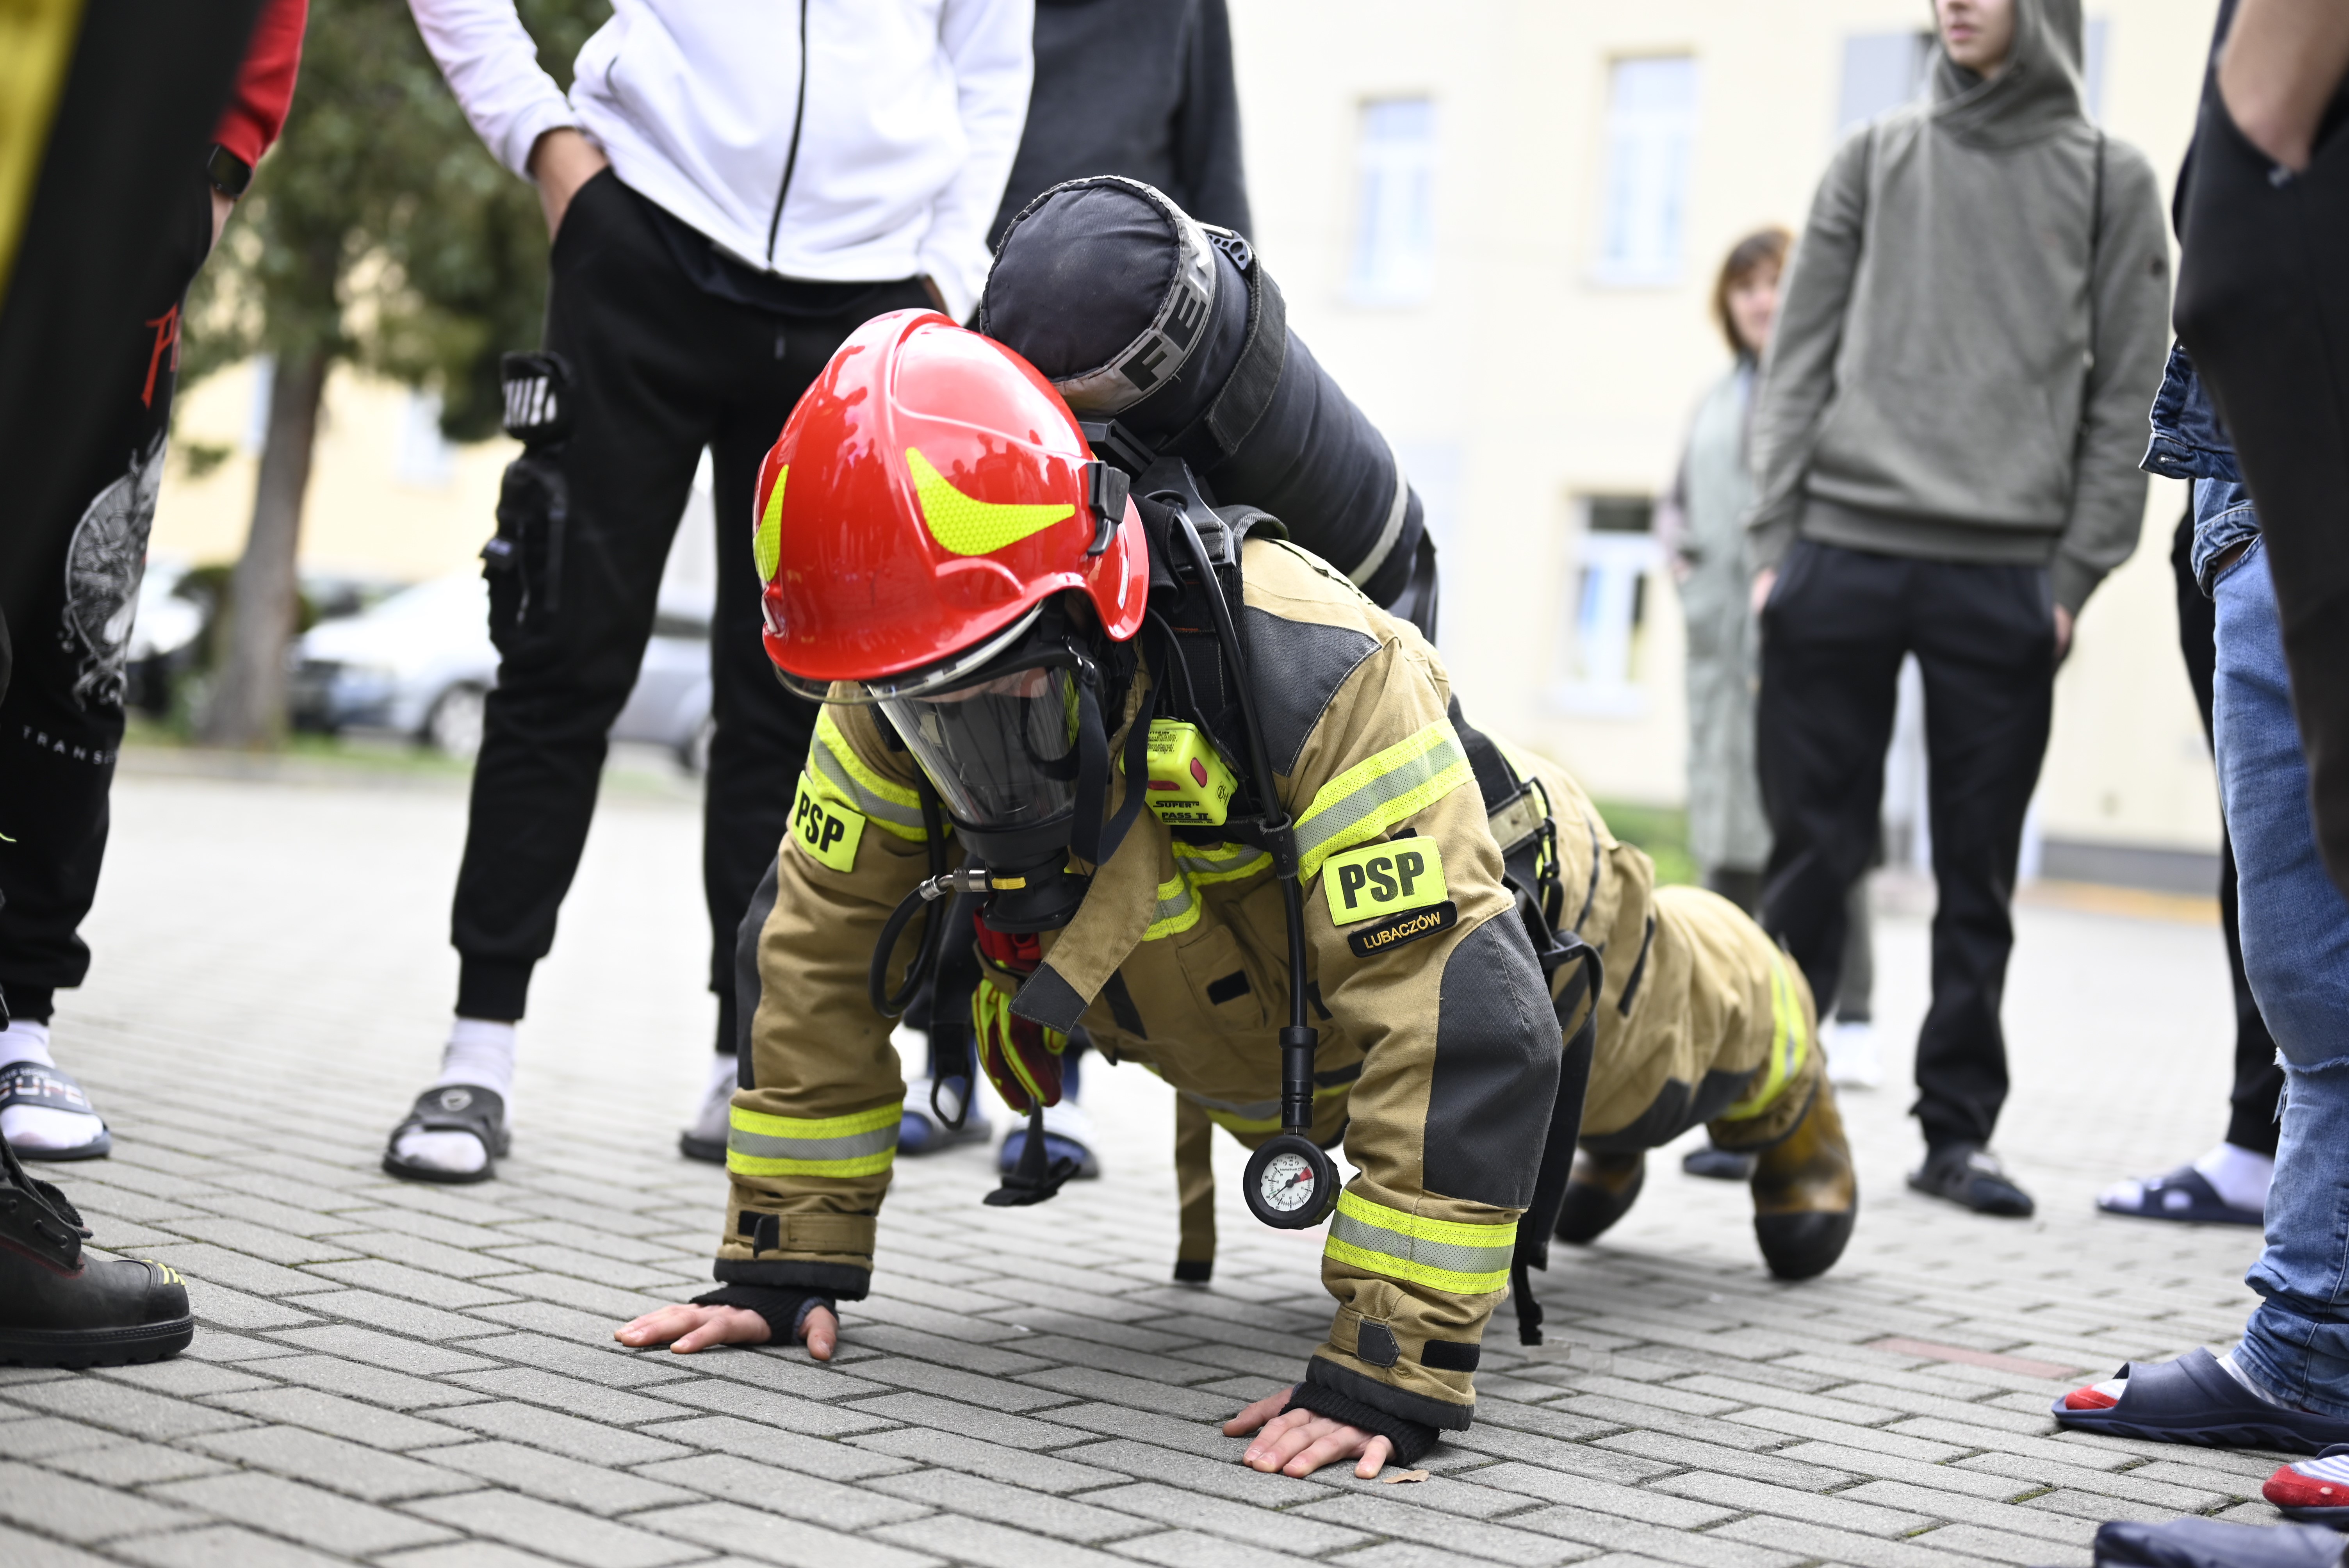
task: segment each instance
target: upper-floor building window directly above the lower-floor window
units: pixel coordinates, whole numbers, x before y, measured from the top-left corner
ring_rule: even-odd
[[[1696,143],[1696,61],[1616,61],[1607,87],[1595,277],[1618,286],[1680,282]]]

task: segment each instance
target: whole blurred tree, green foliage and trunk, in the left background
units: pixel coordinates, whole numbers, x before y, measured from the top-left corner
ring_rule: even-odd
[[[571,61],[608,0],[521,0],[540,61]],[[430,387],[442,430],[498,430],[498,354],[538,343],[547,232],[536,190],[465,124],[404,0],[310,0],[284,136],[195,286],[183,380],[272,354],[254,523],[221,620],[221,678],[200,732],[284,732],[284,648],[317,411],[336,361]]]

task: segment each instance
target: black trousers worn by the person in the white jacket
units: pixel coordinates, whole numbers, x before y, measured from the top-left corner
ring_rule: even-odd
[[[559,533],[536,519],[524,552],[529,613],[498,596],[498,685],[489,695],[472,819],[456,883],[456,1009],[519,1019],[531,967],[578,871],[604,768],[653,631],[660,568],[702,446],[714,467],[716,615],[709,627],[709,777],[702,890],[716,1047],[735,1042],[733,951],[749,894],[782,843],[815,707],[775,683],[759,641],[752,505],[759,462],[832,350],[883,310],[928,305],[916,279],[815,289],[829,315],[785,317],[723,300],[679,268],[648,202],[611,171],[573,197],[554,239],[545,347],[571,366],[571,437],[533,460],[568,491]],[[510,502],[545,491],[510,486]],[[529,500],[524,502],[529,505]],[[505,521],[500,519],[500,528]]]

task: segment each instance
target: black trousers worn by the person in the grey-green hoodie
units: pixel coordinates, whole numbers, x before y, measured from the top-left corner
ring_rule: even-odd
[[[1828,1014],[1842,984],[1844,894],[1877,843],[1910,653],[1924,671],[1940,890],[1912,1115],[1929,1145],[1987,1143],[2006,1103],[2008,901],[2055,690],[2046,568],[1795,545],[1762,610],[1757,765],[1773,836],[1762,925]]]

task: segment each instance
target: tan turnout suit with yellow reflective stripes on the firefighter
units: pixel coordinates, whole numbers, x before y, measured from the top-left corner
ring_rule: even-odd
[[[1435,650],[1301,549],[1250,540],[1243,563],[1243,636],[1304,869],[1315,1134],[1344,1129],[1360,1167],[1327,1225],[1337,1317],[1306,1376],[1459,1430],[1564,1035],[1501,885]],[[904,1082],[864,972],[928,871],[914,761],[890,739],[871,709],[824,709],[778,857],[752,1087],[735,1094],[728,1141],[728,1282],[846,1298],[869,1282]],[[1569,922],[1607,958],[1586,1134],[1640,1138],[1670,1122],[1675,1136],[1741,1096],[1734,1113],[1788,1101],[1785,1084],[1816,1075],[1792,967],[1727,901],[1656,894],[1647,857],[1607,833],[1562,770],[1513,761],[1550,796]],[[1182,843],[1142,812],[1076,920],[1043,944],[1024,988],[989,976],[1019,993],[1022,1014],[1083,1023],[1109,1061],[1158,1073],[1247,1145],[1280,1129],[1287,937],[1268,854]]]

